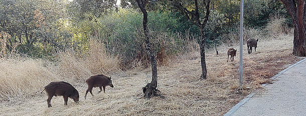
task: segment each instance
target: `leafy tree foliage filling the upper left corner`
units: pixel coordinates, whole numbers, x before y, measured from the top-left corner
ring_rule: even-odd
[[[67,31],[59,29],[59,21],[65,17],[65,8],[59,2],[1,0],[0,30],[12,35],[7,41],[11,46],[8,50],[13,51],[12,46],[19,43],[19,52],[40,56],[55,48],[63,48],[65,38],[69,35]]]

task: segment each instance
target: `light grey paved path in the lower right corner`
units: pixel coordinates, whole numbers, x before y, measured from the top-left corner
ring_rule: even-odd
[[[225,115],[306,115],[306,58],[275,76],[262,94],[250,94]]]

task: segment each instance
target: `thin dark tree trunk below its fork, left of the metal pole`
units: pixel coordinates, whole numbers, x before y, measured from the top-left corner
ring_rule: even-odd
[[[200,26],[201,32],[201,43],[200,43],[200,54],[201,54],[201,66],[202,66],[202,74],[200,79],[206,79],[207,76],[207,68],[205,61],[205,36],[204,36],[204,27]]]

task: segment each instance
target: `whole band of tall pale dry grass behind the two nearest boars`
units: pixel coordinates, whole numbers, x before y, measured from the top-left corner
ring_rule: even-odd
[[[93,74],[119,72],[118,56],[106,53],[96,39],[90,40],[88,52],[60,52],[52,62],[18,54],[0,59],[0,101],[18,101],[40,93],[51,81],[67,81],[79,85]]]

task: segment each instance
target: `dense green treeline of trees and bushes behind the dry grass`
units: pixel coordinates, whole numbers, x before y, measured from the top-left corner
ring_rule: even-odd
[[[94,36],[107,52],[119,55],[124,64],[148,59],[142,30],[142,13],[133,2],[115,0],[100,3],[91,0],[1,0],[0,36],[2,51],[18,52],[35,57],[52,56],[58,51],[74,49],[86,52]],[[239,0],[212,0],[211,13],[205,26],[206,46],[221,44],[231,38],[224,35],[237,31]],[[96,4],[96,5],[92,5]],[[103,4],[103,5],[99,5]],[[148,28],[157,54],[186,51],[190,41],[199,42],[200,32],[180,10],[168,1],[149,3]],[[192,6],[190,7],[192,8]],[[204,11],[200,7],[200,12]],[[291,19],[279,0],[247,0],[245,27],[265,28],[269,16],[280,14]],[[204,14],[203,14],[204,15]],[[2,53],[3,54],[3,53]]]

